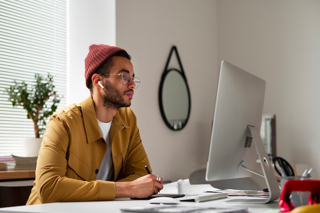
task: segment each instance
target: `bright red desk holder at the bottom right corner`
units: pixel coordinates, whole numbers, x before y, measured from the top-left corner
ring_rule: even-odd
[[[320,180],[300,180],[297,178],[284,182],[279,198],[280,212],[289,212],[302,205],[320,203]]]

